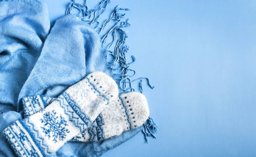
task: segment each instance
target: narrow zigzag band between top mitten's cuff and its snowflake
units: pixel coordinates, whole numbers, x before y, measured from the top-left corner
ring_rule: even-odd
[[[46,141],[43,137],[40,136],[39,131],[35,128],[35,125],[29,120],[29,118],[23,119],[26,126],[29,130],[34,134],[35,139],[40,144],[40,146],[44,149],[44,152],[48,155],[50,154],[49,146],[46,144]]]

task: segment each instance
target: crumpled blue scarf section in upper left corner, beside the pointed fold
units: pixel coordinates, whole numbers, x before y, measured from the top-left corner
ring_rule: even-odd
[[[20,90],[35,66],[50,22],[42,0],[0,0],[0,113],[16,110]]]

